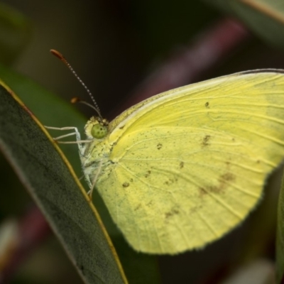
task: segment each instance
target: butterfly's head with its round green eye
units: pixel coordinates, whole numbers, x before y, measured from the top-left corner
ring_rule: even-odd
[[[109,121],[100,117],[92,116],[84,126],[84,131],[89,139],[102,139],[109,132]]]

